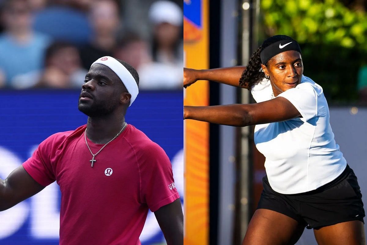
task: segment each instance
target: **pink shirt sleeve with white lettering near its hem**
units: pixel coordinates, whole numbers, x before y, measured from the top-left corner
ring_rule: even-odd
[[[140,162],[141,199],[150,211],[155,212],[180,196],[166,152],[156,143],[146,147],[143,152]]]

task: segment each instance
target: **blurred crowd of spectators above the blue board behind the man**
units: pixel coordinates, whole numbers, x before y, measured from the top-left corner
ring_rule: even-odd
[[[0,0],[0,88],[81,88],[102,56],[137,69],[140,89],[182,88],[183,13],[177,3]]]

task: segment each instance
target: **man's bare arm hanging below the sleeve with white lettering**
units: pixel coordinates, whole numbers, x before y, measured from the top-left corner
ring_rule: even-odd
[[[178,198],[154,212],[167,245],[183,245],[183,214]]]

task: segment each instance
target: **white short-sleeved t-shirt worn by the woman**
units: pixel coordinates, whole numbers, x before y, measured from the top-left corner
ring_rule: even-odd
[[[257,103],[270,100],[272,92],[265,78],[251,89]],[[289,100],[302,117],[255,126],[255,144],[266,158],[270,186],[295,194],[333,181],[344,171],[346,160],[335,143],[321,86],[302,75],[299,85],[278,96]]]

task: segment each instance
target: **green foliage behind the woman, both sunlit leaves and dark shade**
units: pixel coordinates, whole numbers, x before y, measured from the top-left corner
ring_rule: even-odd
[[[338,0],[261,0],[266,36],[299,42],[304,74],[333,101],[358,99],[357,71],[366,59],[367,15]]]

